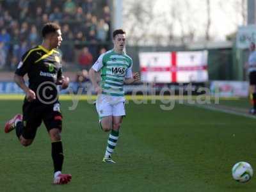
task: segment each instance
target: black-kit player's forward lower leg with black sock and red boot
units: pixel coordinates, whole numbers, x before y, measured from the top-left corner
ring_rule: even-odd
[[[49,135],[52,142],[52,161],[54,165],[54,184],[67,184],[72,179],[70,174],[62,174],[63,165],[63,147],[61,142],[60,129],[54,128],[49,131]]]

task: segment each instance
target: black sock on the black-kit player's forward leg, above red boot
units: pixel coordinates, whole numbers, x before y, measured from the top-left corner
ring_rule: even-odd
[[[56,141],[52,143],[52,160],[53,160],[53,166],[54,166],[54,173],[62,170],[62,164],[63,164],[63,148],[62,148],[62,142]]]

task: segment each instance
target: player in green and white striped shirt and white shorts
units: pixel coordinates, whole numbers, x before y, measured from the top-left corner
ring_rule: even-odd
[[[116,147],[120,125],[125,116],[124,83],[140,80],[138,73],[132,75],[132,59],[124,53],[125,31],[113,31],[114,49],[101,54],[90,69],[90,79],[97,92],[96,109],[103,131],[111,131],[108,138],[103,162],[115,163],[111,154]],[[100,85],[97,84],[97,72],[100,73]]]

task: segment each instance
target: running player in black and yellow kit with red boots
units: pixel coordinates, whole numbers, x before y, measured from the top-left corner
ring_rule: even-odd
[[[61,142],[62,115],[58,102],[57,84],[67,88],[69,79],[63,77],[61,54],[56,51],[61,44],[61,29],[58,24],[47,23],[42,29],[41,45],[29,49],[15,71],[15,83],[26,93],[22,106],[23,115],[17,114],[9,120],[4,131],[15,129],[17,137],[25,147],[31,145],[36,129],[44,122],[52,142],[54,184],[70,182],[70,174],[62,174],[63,147]],[[24,82],[28,74],[29,85]]]

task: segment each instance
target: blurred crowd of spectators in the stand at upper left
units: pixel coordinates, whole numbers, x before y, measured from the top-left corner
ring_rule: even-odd
[[[13,69],[29,48],[42,42],[42,26],[61,26],[64,63],[87,69],[106,51],[111,24],[104,0],[0,1],[0,68]]]

